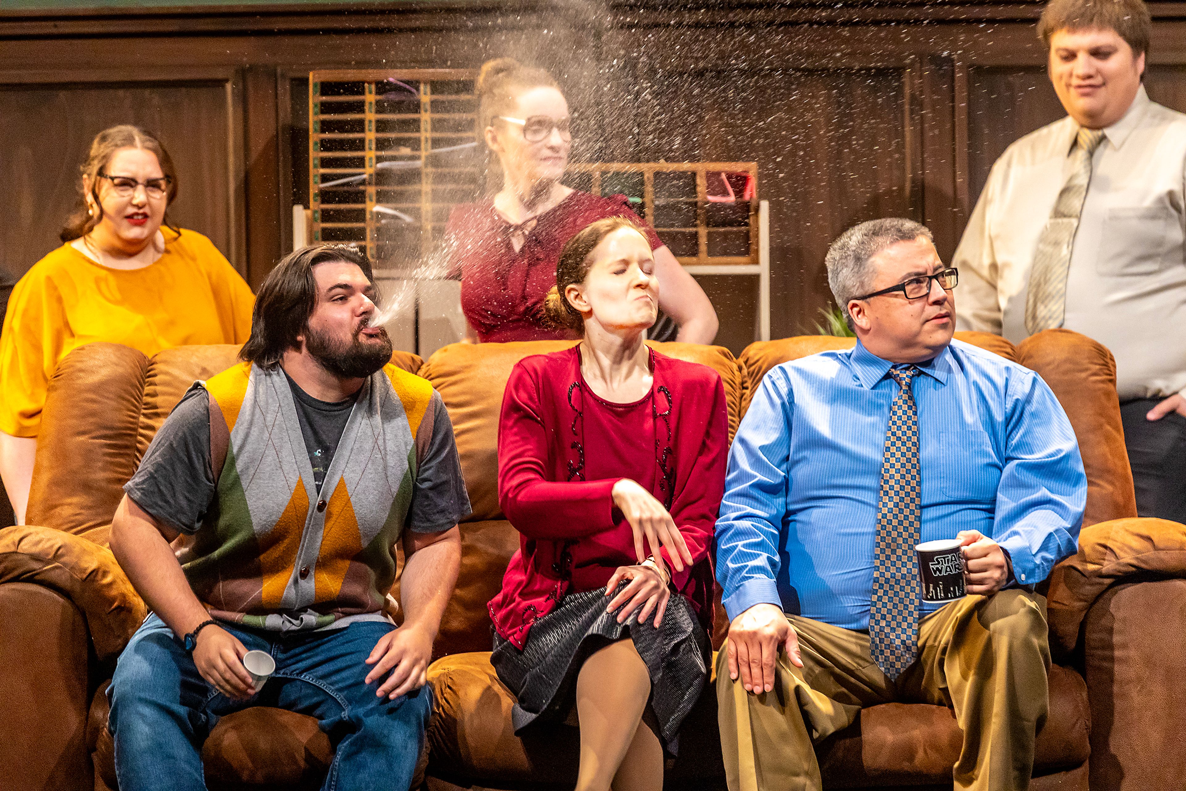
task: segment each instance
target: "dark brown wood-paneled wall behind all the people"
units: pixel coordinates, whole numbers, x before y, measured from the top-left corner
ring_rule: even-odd
[[[1186,110],[1186,4],[1149,5],[1149,93]],[[304,194],[299,94],[311,69],[473,68],[514,55],[566,85],[585,121],[582,159],[758,161],[772,331],[810,332],[830,300],[823,256],[840,231],[914,217],[950,256],[996,157],[1061,115],[1034,37],[1040,8],[458,0],[0,12],[0,276],[11,282],[53,245],[94,130],[132,120],[178,160],[178,222],[257,285],[287,250]],[[720,340],[739,350],[753,283],[704,285]]]

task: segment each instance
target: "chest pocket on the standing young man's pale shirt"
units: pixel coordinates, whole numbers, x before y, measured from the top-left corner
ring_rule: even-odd
[[[1169,206],[1109,209],[1096,272],[1109,276],[1152,275],[1169,266],[1169,254],[1181,242],[1181,218]]]

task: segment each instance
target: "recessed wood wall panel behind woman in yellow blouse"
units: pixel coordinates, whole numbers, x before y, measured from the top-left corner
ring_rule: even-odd
[[[168,221],[208,235],[231,257],[236,238],[232,162],[241,148],[230,76],[160,82],[102,81],[91,72],[62,71],[21,82],[0,77],[0,285],[7,289],[30,264],[59,245],[58,231],[77,203],[79,170],[95,134],[135,123],[168,146],[181,189]],[[159,77],[159,76],[158,76]],[[52,82],[43,82],[49,78]]]

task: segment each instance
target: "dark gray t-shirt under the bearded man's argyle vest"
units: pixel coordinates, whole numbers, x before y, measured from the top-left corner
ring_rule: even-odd
[[[331,403],[313,398],[292,378],[288,383],[313,465],[314,484],[320,491],[357,395]],[[210,459],[209,404],[205,390],[195,388],[186,393],[157,432],[132,480],[123,486],[136,505],[186,534],[197,532],[206,512],[216,505],[218,481]],[[408,509],[408,528],[416,532],[448,530],[470,515],[453,425],[435,390],[429,408],[435,415],[433,436],[416,471]]]

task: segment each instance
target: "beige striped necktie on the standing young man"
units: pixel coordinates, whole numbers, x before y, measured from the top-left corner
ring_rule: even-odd
[[[1050,219],[1038,237],[1029,292],[1026,294],[1026,332],[1063,326],[1066,313],[1066,274],[1071,268],[1071,245],[1079,228],[1083,200],[1091,183],[1091,155],[1104,139],[1103,129],[1079,128],[1071,152],[1071,176],[1063,185]]]

